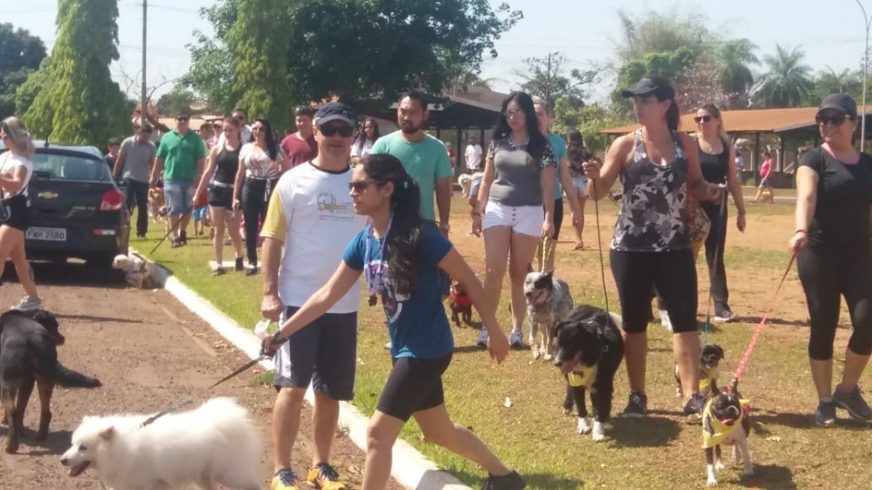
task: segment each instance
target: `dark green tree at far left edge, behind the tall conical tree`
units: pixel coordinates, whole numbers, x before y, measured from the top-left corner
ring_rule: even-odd
[[[44,58],[41,39],[11,24],[0,24],[0,120],[15,113],[15,91]]]

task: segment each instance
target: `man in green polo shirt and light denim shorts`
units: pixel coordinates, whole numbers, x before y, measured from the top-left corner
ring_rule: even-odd
[[[157,147],[157,157],[152,167],[151,183],[157,184],[157,176],[163,172],[163,195],[166,200],[166,214],[170,217],[173,230],[172,247],[187,245],[188,224],[191,222],[191,201],[193,201],[193,181],[203,172],[206,158],[206,145],[203,138],[191,131],[191,116],[179,113],[177,125],[161,138]]]

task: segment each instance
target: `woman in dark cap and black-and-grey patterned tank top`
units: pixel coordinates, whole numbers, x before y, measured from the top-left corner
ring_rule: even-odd
[[[679,106],[668,80],[643,78],[621,93],[633,99],[641,128],[621,136],[606,162],[584,164],[590,196],[600,200],[620,177],[622,199],[609,259],[618,287],[624,333],[629,403],[623,417],[646,417],[650,294],[656,287],[672,321],[672,352],[679,367],[684,415],[699,419],[697,270],[690,250],[688,194],[718,201],[721,188],[699,170],[696,142],[679,129]]]

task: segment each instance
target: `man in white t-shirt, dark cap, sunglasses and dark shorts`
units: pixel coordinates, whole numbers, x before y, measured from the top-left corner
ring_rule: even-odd
[[[267,319],[290,317],[320,289],[342,262],[342,252],[366,219],[354,212],[348,185],[356,118],[344,103],[326,103],[315,114],[318,156],[286,171],[272,192],[263,221],[263,303]],[[282,245],[284,254],[282,255]],[[293,334],[274,358],[273,384],[279,391],[272,410],[272,490],[296,488],[291,451],[300,428],[300,410],[312,382],[312,468],[316,488],[342,490],[330,465],[339,420],[339,401],[351,400],[357,363],[355,284],[321,318]]]

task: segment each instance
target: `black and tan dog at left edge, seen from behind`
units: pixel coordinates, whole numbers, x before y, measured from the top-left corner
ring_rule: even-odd
[[[0,315],[0,402],[9,426],[5,451],[18,450],[24,433],[25,408],[34,385],[38,387],[41,412],[37,439],[48,437],[52,420],[54,385],[100,387],[100,381],[71,369],[57,360],[57,346],[64,344],[57,319],[44,310],[10,310]],[[17,398],[17,403],[16,403]]]

